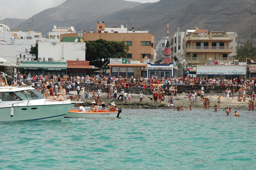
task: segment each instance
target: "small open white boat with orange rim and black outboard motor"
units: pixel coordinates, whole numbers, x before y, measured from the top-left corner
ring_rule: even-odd
[[[79,112],[79,110],[70,110],[66,114],[66,118],[118,118],[119,114],[122,112],[121,108],[118,111],[109,112],[106,110],[98,110],[97,112],[85,111]]]

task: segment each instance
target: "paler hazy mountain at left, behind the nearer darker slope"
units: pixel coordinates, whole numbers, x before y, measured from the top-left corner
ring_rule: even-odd
[[[125,8],[134,8],[138,5],[141,3],[122,0],[67,0],[57,7],[43,10],[34,15],[33,30],[43,30],[46,33],[51,31],[53,25],[74,26],[76,30],[79,30],[81,22],[83,28],[89,26],[92,23],[87,23],[87,20],[94,16],[113,13]],[[32,18],[29,18],[20,26],[27,27],[27,23],[31,22]]]

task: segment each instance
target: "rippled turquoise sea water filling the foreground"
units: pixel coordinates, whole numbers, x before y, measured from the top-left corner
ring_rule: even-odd
[[[256,113],[238,112],[0,122],[0,169],[256,169]]]

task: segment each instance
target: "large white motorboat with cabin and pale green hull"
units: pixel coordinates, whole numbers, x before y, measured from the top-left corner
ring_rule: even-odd
[[[42,98],[32,87],[0,87],[0,122],[57,120],[61,121],[74,102]]]

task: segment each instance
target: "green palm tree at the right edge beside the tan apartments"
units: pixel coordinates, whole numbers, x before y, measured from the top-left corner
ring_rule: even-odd
[[[237,49],[236,57],[239,60],[239,62],[246,62],[246,58],[256,60],[256,48],[242,46]]]

